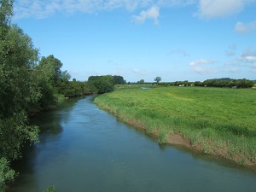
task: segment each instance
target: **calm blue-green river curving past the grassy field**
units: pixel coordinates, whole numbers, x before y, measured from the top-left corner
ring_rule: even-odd
[[[224,160],[159,145],[94,105],[68,100],[32,119],[40,143],[15,164],[12,192],[256,191],[256,173]]]

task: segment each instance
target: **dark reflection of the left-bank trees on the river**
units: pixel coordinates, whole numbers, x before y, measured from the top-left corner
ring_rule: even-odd
[[[67,121],[70,111],[73,109],[73,106],[80,98],[68,99],[67,101],[60,104],[59,108],[38,113],[38,115],[32,117],[31,124],[38,125],[39,132],[39,143],[32,144],[26,143],[22,150],[23,158],[21,160],[16,160],[12,163],[12,167],[16,172],[32,173],[34,172],[34,160],[38,155],[37,145],[43,146],[47,144],[47,139],[55,137],[60,137],[60,133],[63,131],[61,123]],[[26,174],[25,174],[26,175]],[[22,183],[34,183],[32,178],[28,177],[17,177],[15,179],[15,185],[19,186]]]

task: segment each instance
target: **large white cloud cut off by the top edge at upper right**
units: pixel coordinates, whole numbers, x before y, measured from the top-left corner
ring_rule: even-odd
[[[195,14],[200,18],[223,17],[240,12],[246,0],[200,0],[199,10]]]

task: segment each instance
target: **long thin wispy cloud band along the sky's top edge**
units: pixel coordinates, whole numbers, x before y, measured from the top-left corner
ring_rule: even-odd
[[[14,3],[15,18],[45,18],[54,15],[55,12],[64,14],[97,13],[113,9],[126,9],[134,11],[136,9],[154,8],[151,17],[155,22],[159,12],[155,8],[183,7],[195,3],[197,0],[16,0]],[[148,13],[149,14],[149,13]],[[156,15],[154,15],[156,14]],[[147,14],[146,14],[147,15]],[[143,15],[141,19],[143,20]],[[148,15],[150,17],[150,14]]]

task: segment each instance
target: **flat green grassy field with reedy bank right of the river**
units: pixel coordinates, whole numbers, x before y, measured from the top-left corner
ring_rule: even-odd
[[[124,88],[124,87],[122,87]],[[117,89],[95,103],[168,143],[180,134],[193,148],[256,165],[256,91],[197,87]]]

